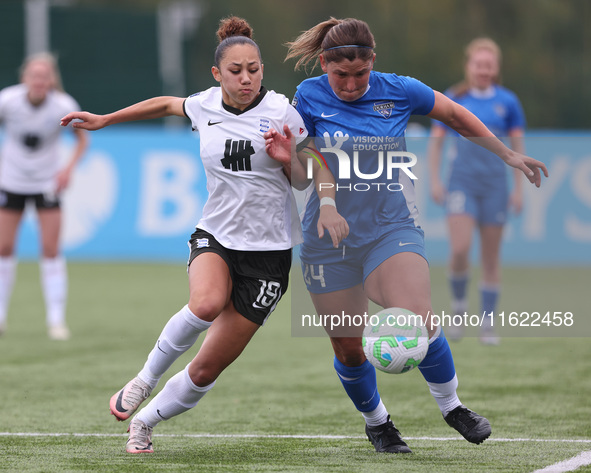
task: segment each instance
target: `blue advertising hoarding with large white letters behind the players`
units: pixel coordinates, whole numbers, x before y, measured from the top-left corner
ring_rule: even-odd
[[[448,255],[445,214],[429,197],[426,139],[409,138],[420,223],[434,264]],[[65,140],[64,156],[72,142]],[[591,136],[545,132],[526,138],[527,154],[549,179],[524,184],[524,209],[506,226],[502,258],[525,265],[591,263]],[[445,163],[444,163],[445,165]],[[186,242],[207,199],[199,139],[185,129],[115,127],[91,133],[91,146],[63,198],[62,248],[73,260],[184,261]],[[18,256],[39,254],[27,212]],[[474,255],[477,254],[477,239]]]

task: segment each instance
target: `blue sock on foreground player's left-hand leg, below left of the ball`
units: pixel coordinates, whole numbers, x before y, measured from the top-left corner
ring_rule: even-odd
[[[334,369],[347,391],[347,394],[360,412],[373,411],[380,403],[380,393],[376,381],[376,370],[365,360],[361,366],[345,366],[334,357]]]

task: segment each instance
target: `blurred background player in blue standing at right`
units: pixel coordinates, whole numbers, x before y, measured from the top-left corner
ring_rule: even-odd
[[[497,137],[508,137],[513,150],[523,153],[525,117],[519,99],[499,85],[501,50],[489,38],[477,38],[466,47],[464,81],[451,87],[446,95],[476,115]],[[441,153],[446,135],[453,136],[454,153],[447,186],[440,179]],[[480,233],[481,313],[480,340],[496,345],[499,337],[491,324],[500,290],[500,246],[507,212],[522,207],[522,176],[514,171],[513,191],[509,194],[507,169],[490,151],[461,138],[439,121],[433,121],[428,147],[431,196],[444,204],[451,244],[449,283],[452,312],[468,312],[470,247],[474,228]],[[484,316],[484,314],[487,314]],[[463,326],[450,326],[446,334],[459,339]]]

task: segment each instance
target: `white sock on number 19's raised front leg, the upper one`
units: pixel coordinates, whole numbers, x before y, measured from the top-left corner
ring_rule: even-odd
[[[167,322],[148,355],[139,378],[154,389],[162,375],[176,359],[191,348],[199,334],[207,330],[211,322],[201,320],[184,306]]]

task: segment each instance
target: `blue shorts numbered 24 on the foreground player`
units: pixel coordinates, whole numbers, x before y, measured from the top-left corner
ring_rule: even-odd
[[[412,252],[425,260],[425,234],[419,227],[406,226],[382,235],[358,248],[341,246],[319,250],[301,247],[300,260],[308,291],[325,294],[363,284],[370,273],[391,256]]]

